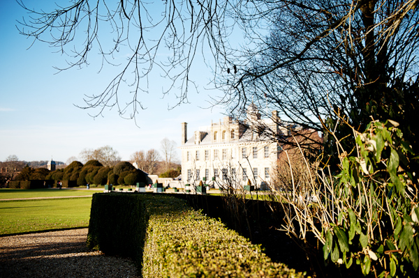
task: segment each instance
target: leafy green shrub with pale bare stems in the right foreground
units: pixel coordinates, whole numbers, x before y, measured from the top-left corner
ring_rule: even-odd
[[[325,260],[347,268],[356,263],[364,275],[413,277],[419,267],[418,179],[411,169],[417,157],[397,125],[373,121],[362,134],[354,130],[353,153],[338,146],[337,175],[318,171],[310,190],[281,195],[286,231],[304,240],[304,231],[312,231]],[[317,203],[302,198],[307,195]]]

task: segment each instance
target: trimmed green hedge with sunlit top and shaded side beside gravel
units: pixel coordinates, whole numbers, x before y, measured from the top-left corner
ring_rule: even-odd
[[[172,196],[94,194],[88,246],[131,256],[144,278],[303,277]]]

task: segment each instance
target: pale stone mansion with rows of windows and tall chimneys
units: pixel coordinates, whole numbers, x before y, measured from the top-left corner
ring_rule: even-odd
[[[278,125],[277,111],[272,118],[262,119],[255,105],[247,109],[244,121],[211,123],[193,132],[188,138],[187,123],[182,123],[182,180],[198,185],[205,178],[207,184],[218,187],[264,187],[270,183],[281,147],[267,138],[265,130],[284,136],[286,128]]]

